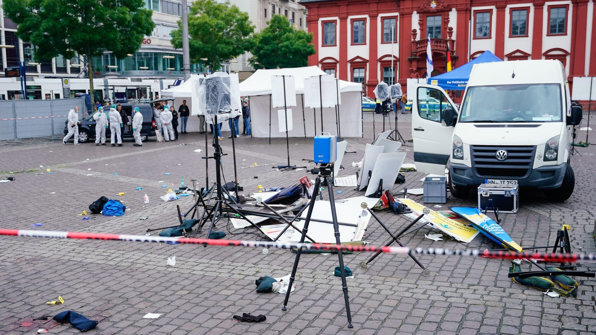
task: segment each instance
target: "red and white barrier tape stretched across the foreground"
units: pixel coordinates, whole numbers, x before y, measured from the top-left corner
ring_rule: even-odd
[[[125,234],[101,234],[98,232],[69,232],[51,230],[29,230],[29,229],[0,229],[0,235],[21,236],[21,237],[52,237],[52,238],[76,238],[82,240],[118,240],[134,242],[178,242],[185,244],[202,244],[206,246],[243,246],[263,248],[300,248],[302,250],[325,250],[331,252],[352,251],[352,252],[383,252],[392,254],[414,253],[418,255],[447,255],[447,256],[470,256],[474,258],[495,258],[495,259],[544,259],[546,262],[596,262],[595,254],[581,253],[539,253],[539,252],[513,252],[513,251],[491,251],[491,250],[451,250],[441,248],[408,248],[408,247],[385,247],[385,246],[346,246],[337,244],[316,244],[316,243],[284,243],[270,241],[243,241],[243,240],[211,240],[206,238],[177,238],[163,236],[125,235]]]

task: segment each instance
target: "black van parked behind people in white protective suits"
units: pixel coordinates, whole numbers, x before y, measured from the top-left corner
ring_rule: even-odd
[[[147,137],[155,136],[155,122],[153,120],[153,109],[151,108],[150,104],[120,104],[122,109],[126,112],[126,115],[129,118],[129,122],[132,123],[132,109],[135,107],[139,107],[139,113],[143,116],[143,128],[141,129],[141,141],[147,140]],[[108,106],[109,107],[109,106]],[[103,110],[102,110],[103,111]],[[107,117],[108,121],[110,120],[110,110],[105,111],[105,116]],[[69,133],[68,130],[68,120],[64,123],[64,135]],[[125,120],[122,120],[122,123],[125,124],[124,126],[124,134],[122,134],[122,138],[133,138],[132,136],[132,127],[126,125]],[[108,123],[109,124],[109,123]],[[105,138],[109,141],[110,139],[110,129],[105,129]],[[88,142],[89,139],[95,138],[95,120],[93,119],[93,114],[85,117],[80,121],[79,125],[79,142],[85,143]]]

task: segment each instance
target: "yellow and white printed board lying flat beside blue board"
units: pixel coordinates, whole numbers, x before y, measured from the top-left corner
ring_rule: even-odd
[[[471,240],[474,240],[474,237],[476,237],[476,235],[478,235],[479,233],[478,229],[473,227],[467,227],[465,225],[460,224],[460,222],[445,218],[445,216],[441,215],[440,213],[437,213],[434,210],[425,207],[424,205],[419,204],[414,200],[398,200],[401,201],[401,203],[408,206],[409,209],[411,209],[412,212],[416,213],[417,215],[424,214],[424,219],[429,221],[434,228],[439,229],[440,231],[455,238],[458,241],[469,243]]]

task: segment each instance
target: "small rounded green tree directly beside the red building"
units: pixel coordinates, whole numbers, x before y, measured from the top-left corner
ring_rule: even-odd
[[[283,15],[273,15],[268,24],[255,34],[258,42],[252,49],[252,65],[256,69],[308,66],[308,56],[315,54],[312,33],[294,30]]]

